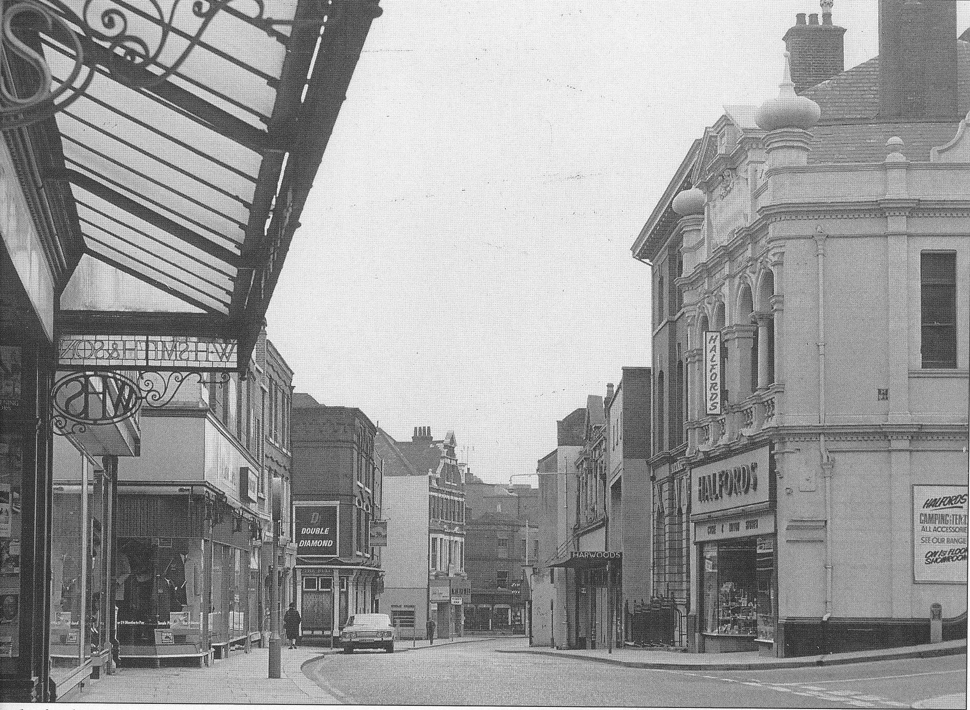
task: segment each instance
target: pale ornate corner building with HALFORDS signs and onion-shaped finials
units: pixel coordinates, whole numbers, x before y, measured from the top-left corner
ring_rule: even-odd
[[[799,16],[800,84],[727,107],[633,244],[693,651],[924,643],[935,604],[966,635],[970,48],[954,2],[879,14],[848,71]]]

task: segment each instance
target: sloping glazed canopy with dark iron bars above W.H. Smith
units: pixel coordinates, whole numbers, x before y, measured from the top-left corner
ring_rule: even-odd
[[[52,86],[90,80],[46,124],[57,330],[233,339],[245,367],[377,1],[50,9]]]

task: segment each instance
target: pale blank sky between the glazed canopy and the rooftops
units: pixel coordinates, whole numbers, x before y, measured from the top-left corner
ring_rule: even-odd
[[[725,105],[778,92],[813,0],[382,0],[268,313],[298,392],[489,482],[650,365],[630,245]],[[958,26],[970,2],[957,3]],[[836,0],[846,68],[876,0]],[[527,478],[516,478],[524,483]]]

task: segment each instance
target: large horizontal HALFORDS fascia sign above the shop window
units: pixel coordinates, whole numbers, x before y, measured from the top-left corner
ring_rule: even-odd
[[[766,502],[768,447],[698,466],[692,477],[693,515]]]

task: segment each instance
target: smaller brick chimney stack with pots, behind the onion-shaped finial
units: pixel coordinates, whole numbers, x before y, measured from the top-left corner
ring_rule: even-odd
[[[804,13],[797,13],[794,25],[782,38],[790,54],[796,94],[845,69],[842,36],[846,29],[832,24],[831,5],[823,0],[822,24],[817,13],[808,16],[808,23]]]

